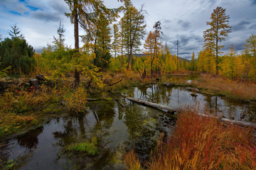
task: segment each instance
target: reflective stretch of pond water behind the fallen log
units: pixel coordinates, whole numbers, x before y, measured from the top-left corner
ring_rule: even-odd
[[[229,119],[244,120],[244,121],[256,121],[256,104],[255,103],[240,103],[238,101],[229,100],[227,98],[221,98],[219,96],[210,96],[203,94],[192,95],[190,87],[166,87],[159,84],[152,84],[150,88],[147,88],[146,94],[148,98],[143,98],[145,90],[141,88],[135,88],[134,90],[124,93],[125,96],[133,96],[135,98],[141,98],[146,101],[154,103],[161,103],[171,108],[178,108],[184,104],[190,104],[195,106],[196,103],[200,103],[201,111],[208,109],[211,113],[217,115],[223,115]],[[195,94],[195,93],[193,93]],[[153,96],[151,98],[150,96]]]

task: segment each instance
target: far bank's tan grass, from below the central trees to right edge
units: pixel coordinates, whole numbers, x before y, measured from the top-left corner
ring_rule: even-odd
[[[200,74],[196,79],[188,83],[192,73],[175,72],[174,75],[184,75],[184,77],[163,76],[162,83],[171,81],[176,86],[194,86],[201,89],[202,94],[220,95],[240,101],[256,101],[256,84],[250,81],[238,81],[226,79],[210,74]],[[172,74],[173,75],[173,74]]]

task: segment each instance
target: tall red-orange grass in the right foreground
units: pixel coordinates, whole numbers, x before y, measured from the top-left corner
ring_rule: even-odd
[[[133,152],[127,169],[142,169]],[[183,108],[168,142],[159,140],[146,169],[256,169],[252,130],[201,117],[196,108]]]

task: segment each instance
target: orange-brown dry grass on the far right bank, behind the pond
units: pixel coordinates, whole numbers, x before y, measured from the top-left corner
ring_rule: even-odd
[[[208,91],[223,94],[229,98],[238,98],[247,101],[256,100],[255,83],[201,74],[198,81],[192,81],[192,84],[199,88],[208,89]]]

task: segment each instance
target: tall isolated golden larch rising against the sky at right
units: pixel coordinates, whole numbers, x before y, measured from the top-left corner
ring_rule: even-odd
[[[210,49],[210,52],[214,52],[215,55],[215,74],[218,74],[220,48],[224,47],[224,45],[220,45],[220,42],[225,40],[225,37],[231,32],[231,27],[228,25],[230,17],[225,12],[225,8],[220,6],[215,8],[210,16],[211,21],[206,23],[210,28],[203,32],[206,49]]]

